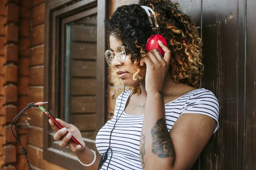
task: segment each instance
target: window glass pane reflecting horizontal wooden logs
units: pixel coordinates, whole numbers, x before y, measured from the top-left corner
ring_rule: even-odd
[[[97,16],[66,25],[65,119],[84,138],[96,136]]]

